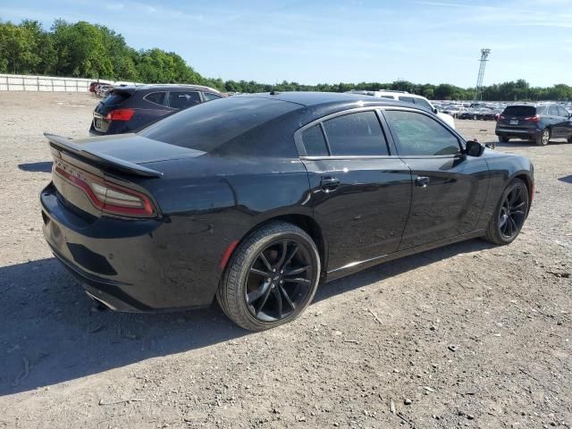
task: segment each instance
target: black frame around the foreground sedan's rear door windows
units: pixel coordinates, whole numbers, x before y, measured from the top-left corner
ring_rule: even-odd
[[[380,106],[372,105],[368,107],[356,107],[348,110],[342,110],[340,112],[335,112],[333,114],[326,114],[321,118],[315,119],[312,122],[308,122],[306,125],[300,127],[296,132],[294,132],[294,143],[296,144],[296,148],[298,149],[298,154],[300,159],[306,159],[308,161],[318,161],[321,159],[383,159],[383,158],[394,158],[397,156],[393,154],[394,146],[392,145],[392,139],[389,135],[389,129],[386,128],[385,118],[381,116],[379,113]],[[324,122],[329,121],[333,118],[337,118],[339,116],[345,116],[347,114],[357,114],[360,112],[374,112],[375,116],[377,117],[377,121],[379,122],[379,126],[382,130],[383,137],[385,138],[385,144],[387,146],[388,155],[331,155],[332,149],[330,147],[330,142],[328,141],[328,135],[324,130]],[[305,130],[312,128],[315,125],[320,125],[320,129],[324,135],[325,144],[328,149],[327,156],[308,156],[306,152],[306,147],[304,146],[304,141],[302,139],[302,134]]]

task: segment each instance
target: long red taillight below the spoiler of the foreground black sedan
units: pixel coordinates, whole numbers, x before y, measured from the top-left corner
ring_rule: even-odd
[[[151,216],[156,213],[151,200],[133,189],[83,174],[70,174],[59,166],[55,167],[55,172],[83,190],[94,206],[107,213],[134,217]]]

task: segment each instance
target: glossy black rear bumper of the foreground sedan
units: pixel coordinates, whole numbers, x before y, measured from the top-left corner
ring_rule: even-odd
[[[193,264],[170,223],[83,218],[62,204],[52,184],[40,201],[44,237],[55,257],[89,295],[108,307],[147,312],[211,304],[216,283],[200,281],[208,268],[202,261]]]

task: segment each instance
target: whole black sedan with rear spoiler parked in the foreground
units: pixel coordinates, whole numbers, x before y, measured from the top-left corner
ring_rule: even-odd
[[[368,266],[475,237],[508,244],[534,196],[526,157],[366,96],[229,97],[138,134],[46,137],[44,234],[92,298],[151,311],[216,296],[249,330]]]

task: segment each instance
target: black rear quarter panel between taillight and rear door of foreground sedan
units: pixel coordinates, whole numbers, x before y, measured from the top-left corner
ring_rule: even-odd
[[[181,298],[199,293],[203,304],[210,302],[226,250],[258,224],[312,215],[306,168],[296,159],[200,156],[147,166],[164,172],[162,179],[141,183],[164,216],[154,232],[154,257],[164,267],[162,277],[181,285]]]

